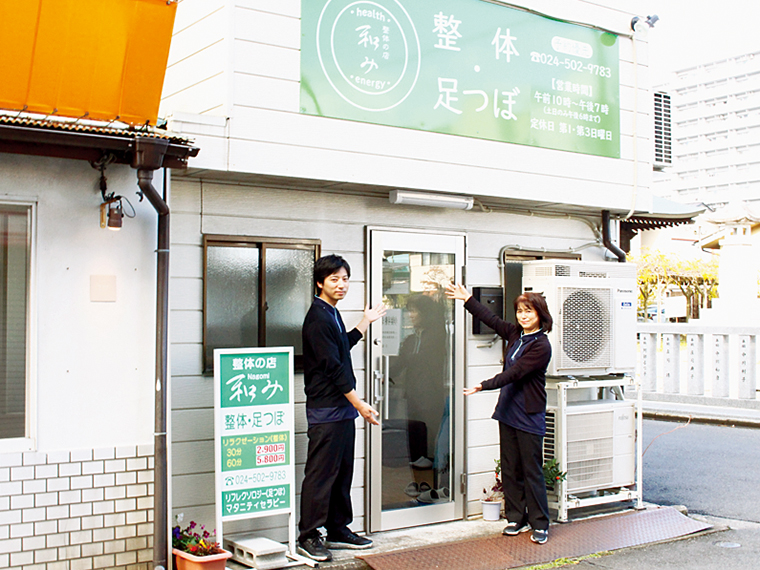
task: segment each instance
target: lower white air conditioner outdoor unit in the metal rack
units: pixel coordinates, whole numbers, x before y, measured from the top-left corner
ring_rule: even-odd
[[[635,482],[634,402],[594,400],[568,404],[566,426],[556,406],[546,409],[544,461],[560,461],[567,472],[565,491],[580,493],[617,487]],[[565,433],[567,441],[562,442]]]

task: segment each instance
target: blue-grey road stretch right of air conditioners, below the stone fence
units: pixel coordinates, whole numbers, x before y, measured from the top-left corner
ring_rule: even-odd
[[[644,500],[760,522],[760,429],[683,425],[644,421]]]

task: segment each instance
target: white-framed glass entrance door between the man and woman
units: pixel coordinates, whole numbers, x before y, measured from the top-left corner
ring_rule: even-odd
[[[444,286],[462,280],[464,237],[370,229],[368,243],[371,302],[390,307],[369,343],[370,530],[461,518],[464,321]]]

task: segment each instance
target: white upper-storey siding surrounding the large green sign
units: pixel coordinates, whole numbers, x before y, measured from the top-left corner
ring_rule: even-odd
[[[173,129],[197,137],[204,149],[213,149],[192,159],[191,167],[467,192],[613,211],[627,212],[634,203],[638,208],[650,207],[653,126],[644,42],[637,42],[634,56],[632,41],[620,37],[621,158],[611,159],[302,115],[299,0],[227,0],[214,12],[213,24],[199,10],[199,2],[180,4],[185,27],[176,36],[177,45],[188,45],[186,35],[198,26],[204,30],[196,34],[198,45],[209,44],[211,36],[218,39],[221,32],[226,47],[214,48],[218,51],[213,57],[191,53],[190,48],[173,48],[174,53],[186,54],[185,67],[176,76],[170,67],[162,107],[162,113],[175,114]],[[620,9],[621,2],[613,1],[522,4],[619,33],[630,31],[633,16]],[[195,24],[189,25],[190,20]],[[214,33],[209,31],[212,27]],[[204,122],[196,126],[187,113],[209,113],[205,109],[209,104],[198,105],[198,98],[192,97],[185,102],[175,93],[218,74],[225,79],[215,96],[224,97],[226,103],[213,112],[223,112],[229,123],[215,129]],[[639,186],[635,192],[634,172]]]

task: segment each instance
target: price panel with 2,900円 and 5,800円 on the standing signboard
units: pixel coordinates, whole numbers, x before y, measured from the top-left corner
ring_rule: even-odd
[[[222,438],[222,471],[285,465],[289,462],[288,432]]]

